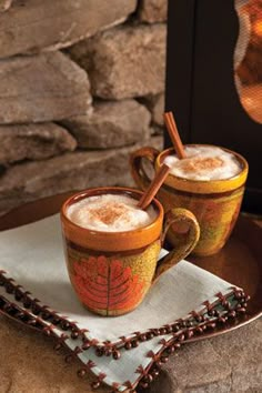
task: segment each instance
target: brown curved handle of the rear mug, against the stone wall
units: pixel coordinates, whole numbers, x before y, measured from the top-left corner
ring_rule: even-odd
[[[145,173],[142,161],[143,159],[148,160],[154,168],[154,162],[159,154],[159,150],[150,147],[139,149],[130,154],[131,174],[137,185],[143,191],[148,189],[149,184],[151,183],[151,180]]]

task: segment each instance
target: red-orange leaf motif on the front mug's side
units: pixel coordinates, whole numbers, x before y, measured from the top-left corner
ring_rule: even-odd
[[[81,259],[73,264],[73,284],[81,301],[90,309],[129,311],[144,293],[144,282],[132,274],[130,266],[103,255]]]

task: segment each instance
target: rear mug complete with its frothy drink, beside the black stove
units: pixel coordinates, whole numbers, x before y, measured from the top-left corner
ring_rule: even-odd
[[[131,167],[137,184],[147,190],[150,179],[143,161],[155,171],[163,163],[171,170],[158,192],[165,211],[171,208],[189,209],[200,223],[201,235],[196,255],[218,252],[229,239],[239,215],[249,165],[243,157],[229,149],[208,144],[184,145],[185,157],[178,159],[174,149],[162,152],[143,148],[132,153]],[[173,228],[168,240],[175,246],[178,235]]]

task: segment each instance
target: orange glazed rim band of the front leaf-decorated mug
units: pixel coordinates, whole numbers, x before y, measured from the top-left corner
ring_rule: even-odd
[[[97,231],[83,228],[72,222],[67,215],[67,209],[82,199],[102,194],[127,194],[139,200],[142,191],[127,187],[99,187],[82,190],[69,196],[62,204],[60,216],[67,240],[97,251],[128,251],[142,249],[161,238],[164,211],[162,204],[154,198],[150,205],[157,211],[157,218],[148,225],[119,232]],[[102,243],[102,244],[101,244]]]

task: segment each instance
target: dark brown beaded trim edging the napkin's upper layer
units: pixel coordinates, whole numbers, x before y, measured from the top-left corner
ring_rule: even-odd
[[[174,334],[179,335],[182,332],[187,332],[187,334],[193,335],[194,329],[198,332],[201,332],[206,323],[212,323],[213,329],[215,328],[216,322],[222,322],[223,319],[226,321],[226,316],[235,316],[235,309],[238,311],[245,312],[246,302],[249,296],[245,296],[244,301],[241,304],[232,304],[229,303],[230,296],[234,293],[243,293],[242,290],[232,286],[230,292],[226,295],[223,295],[221,292],[215,296],[218,300],[212,304],[209,301],[203,303],[203,309],[200,312],[192,311],[188,316],[181,319],[179,321],[174,321],[173,323],[165,324],[160,328],[149,329],[144,332],[134,332],[129,337],[121,336],[118,342],[112,343],[111,341],[105,341],[101,344],[101,342],[97,339],[88,339],[85,333],[89,332],[88,329],[79,329],[77,322],[69,321],[66,316],[59,315],[57,312],[51,311],[48,305],[39,304],[40,301],[38,299],[33,299],[31,293],[24,291],[21,285],[17,285],[13,279],[7,278],[4,271],[0,271],[0,285],[4,286],[6,292],[14,296],[16,301],[21,302],[23,308],[27,309],[34,315],[34,319],[40,321],[46,321],[48,324],[54,325],[57,330],[63,332],[70,332],[70,336],[72,340],[81,340],[81,350],[87,351],[90,347],[95,347],[95,353],[98,356],[112,356],[114,360],[119,360],[121,357],[120,349],[125,349],[127,351],[137,347],[141,342],[152,340],[155,336],[161,336],[165,334]],[[241,305],[241,306],[240,306]],[[218,306],[222,309],[220,311],[216,310]],[[229,315],[228,315],[229,314]],[[224,322],[225,322],[224,321]]]

